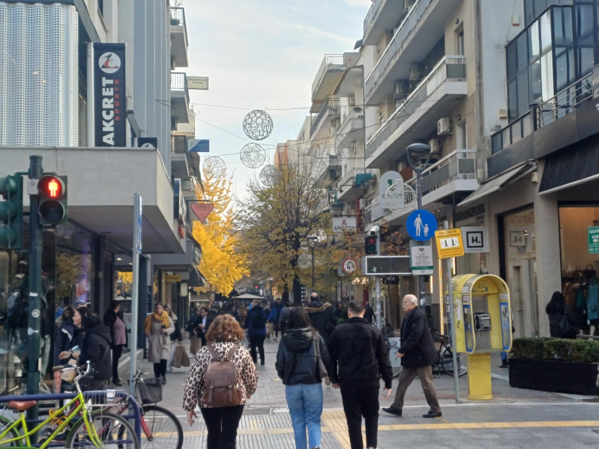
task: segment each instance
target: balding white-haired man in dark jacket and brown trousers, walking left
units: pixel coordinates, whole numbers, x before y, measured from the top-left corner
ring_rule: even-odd
[[[441,416],[441,407],[437,401],[437,392],[432,383],[432,365],[437,362],[437,351],[432,342],[431,332],[426,326],[426,316],[416,305],[418,299],[414,295],[406,295],[401,307],[407,313],[401,324],[401,347],[397,351],[401,357],[403,369],[400,373],[400,382],[395,393],[395,401],[384,412],[401,416],[404,406],[406,390],[416,377],[420,378],[426,402],[431,408],[423,418],[437,418]]]

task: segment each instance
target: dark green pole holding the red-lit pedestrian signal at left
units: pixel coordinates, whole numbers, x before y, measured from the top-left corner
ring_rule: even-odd
[[[41,156],[29,156],[29,178],[40,179],[43,174]],[[41,227],[38,208],[40,196],[29,196],[29,317],[27,350],[27,394],[40,393],[40,327],[41,327]],[[27,411],[28,419],[38,418],[38,406]],[[34,435],[37,441],[37,438]],[[32,443],[36,442],[32,440]]]

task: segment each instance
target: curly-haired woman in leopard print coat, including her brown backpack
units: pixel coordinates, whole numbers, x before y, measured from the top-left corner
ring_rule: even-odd
[[[249,351],[240,346],[243,329],[231,315],[214,318],[207,345],[197,354],[187,375],[183,409],[191,426],[195,406],[206,424],[207,449],[235,449],[237,427],[247,399],[258,387],[258,373]]]

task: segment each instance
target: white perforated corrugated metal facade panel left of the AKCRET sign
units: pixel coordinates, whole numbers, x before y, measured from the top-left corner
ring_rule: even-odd
[[[0,145],[78,144],[77,10],[0,2]]]

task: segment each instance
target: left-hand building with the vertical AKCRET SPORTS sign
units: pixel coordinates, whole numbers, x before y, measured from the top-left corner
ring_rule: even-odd
[[[68,176],[68,222],[43,233],[47,329],[65,304],[90,302],[104,314],[117,294],[131,293],[116,279],[131,270],[135,192],[143,201],[140,310],[155,291],[186,299],[202,280],[185,201],[201,185],[199,157],[179,139],[195,134],[186,78],[175,71],[187,66],[184,11],[162,0],[0,1],[0,28],[0,175],[27,171],[39,154],[44,171]],[[107,105],[115,120],[102,125]],[[0,251],[2,315],[26,295],[27,277],[28,254]],[[43,374],[52,340],[43,335]],[[2,347],[10,350],[0,386],[13,387],[25,375],[26,345]]]

